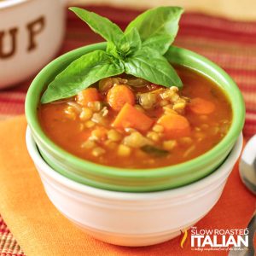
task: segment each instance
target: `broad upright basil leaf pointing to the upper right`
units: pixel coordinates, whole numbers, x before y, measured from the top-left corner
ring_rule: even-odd
[[[137,27],[143,46],[156,49],[164,55],[177,35],[178,21],[182,13],[183,9],[180,7],[149,9],[132,20],[125,32]]]

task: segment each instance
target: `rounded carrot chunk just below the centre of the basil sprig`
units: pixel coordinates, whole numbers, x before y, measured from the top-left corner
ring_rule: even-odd
[[[107,101],[111,108],[119,111],[125,103],[135,104],[135,96],[129,87],[125,85],[116,85],[108,90]]]

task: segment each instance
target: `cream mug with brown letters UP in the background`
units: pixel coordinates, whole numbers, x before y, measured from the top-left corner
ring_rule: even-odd
[[[32,76],[61,46],[64,0],[0,1],[0,89]]]

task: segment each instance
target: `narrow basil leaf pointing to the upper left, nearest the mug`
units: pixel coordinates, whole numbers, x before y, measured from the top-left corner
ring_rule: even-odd
[[[118,44],[120,38],[124,36],[124,32],[122,32],[119,26],[105,17],[78,7],[70,7],[69,9],[78,15],[81,20],[84,20],[94,32],[100,34],[107,41]]]

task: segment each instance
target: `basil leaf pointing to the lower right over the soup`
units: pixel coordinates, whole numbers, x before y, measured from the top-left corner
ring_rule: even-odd
[[[154,49],[143,48],[124,61],[125,73],[166,87],[182,87],[175,69]]]

